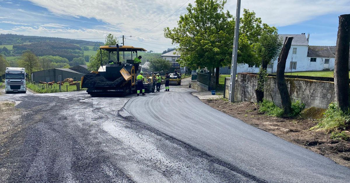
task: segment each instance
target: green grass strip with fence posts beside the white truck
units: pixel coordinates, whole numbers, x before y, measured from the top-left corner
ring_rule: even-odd
[[[64,83],[61,86],[61,92],[66,92],[67,86],[68,86],[68,92],[77,91],[77,86],[75,86],[75,85],[70,86],[68,83]],[[35,84],[30,83],[30,84],[27,84],[27,87],[30,90],[33,90],[33,91],[38,92],[38,93],[57,93],[57,92],[59,92],[59,85],[58,84],[52,85],[52,88],[51,88],[51,86],[46,88],[46,85],[43,85],[43,84],[40,84],[40,86],[37,86]],[[86,90],[86,89],[80,89],[80,90]]]

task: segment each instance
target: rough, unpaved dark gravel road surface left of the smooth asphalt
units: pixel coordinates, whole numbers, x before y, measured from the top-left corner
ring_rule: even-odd
[[[3,94],[23,114],[1,144],[0,182],[258,181],[145,126],[123,110],[131,97]]]

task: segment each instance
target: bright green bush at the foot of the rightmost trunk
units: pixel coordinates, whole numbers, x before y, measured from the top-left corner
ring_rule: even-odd
[[[336,103],[330,103],[327,111],[323,114],[323,118],[316,126],[311,127],[310,130],[322,130],[326,133],[336,132],[339,129],[345,129],[349,121],[349,114],[341,111]]]

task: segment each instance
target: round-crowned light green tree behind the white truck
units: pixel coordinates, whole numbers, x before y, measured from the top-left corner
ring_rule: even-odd
[[[19,60],[18,65],[20,67],[26,68],[26,72],[29,75],[29,79],[31,77],[31,73],[36,71],[36,69],[39,68],[38,58],[31,51],[25,51],[22,54],[22,57]]]

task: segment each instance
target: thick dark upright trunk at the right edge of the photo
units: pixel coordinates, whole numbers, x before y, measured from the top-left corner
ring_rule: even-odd
[[[350,14],[339,16],[337,47],[335,50],[335,99],[343,112],[349,111],[349,44]]]

